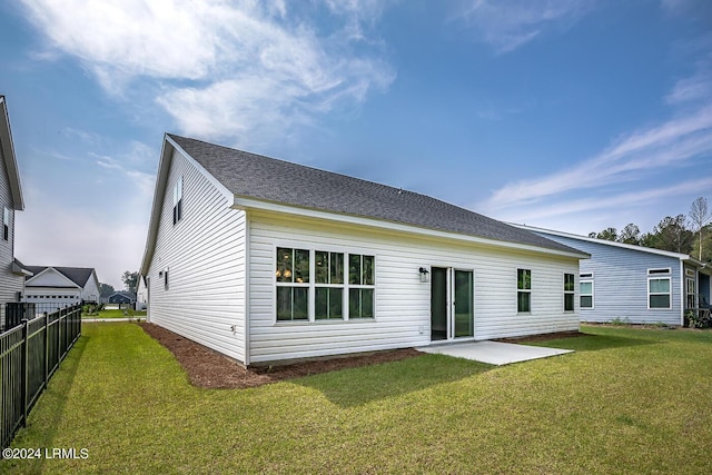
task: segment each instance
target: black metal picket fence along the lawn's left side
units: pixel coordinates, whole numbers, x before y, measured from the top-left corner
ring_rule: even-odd
[[[23,304],[32,306],[33,304]],[[34,315],[34,308],[26,309]],[[81,335],[81,306],[62,308],[0,334],[0,446],[27,424],[49,378]]]

